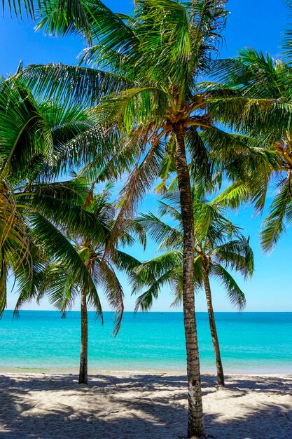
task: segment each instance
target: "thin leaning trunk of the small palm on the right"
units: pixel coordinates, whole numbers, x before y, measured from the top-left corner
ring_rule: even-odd
[[[212,339],[213,349],[214,349],[215,358],[216,358],[217,383],[218,383],[218,386],[224,386],[224,372],[223,372],[223,366],[222,366],[222,361],[221,361],[219,341],[218,341],[218,335],[217,335],[216,323],[215,323],[215,317],[214,317],[214,310],[213,310],[213,304],[212,304],[211,287],[210,287],[210,282],[209,282],[209,276],[208,276],[208,273],[206,271],[203,271],[203,281],[204,281],[204,290],[205,290],[206,299],[207,299],[207,308],[208,308],[209,323],[210,323],[210,329],[211,329],[211,339]]]

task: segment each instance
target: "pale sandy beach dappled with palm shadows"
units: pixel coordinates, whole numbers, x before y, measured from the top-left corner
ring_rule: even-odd
[[[202,377],[209,438],[292,439],[292,374],[227,375],[216,391]],[[181,374],[0,376],[0,438],[185,438],[186,377]]]

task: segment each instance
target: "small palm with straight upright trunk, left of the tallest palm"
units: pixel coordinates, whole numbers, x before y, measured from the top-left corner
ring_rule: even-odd
[[[116,322],[113,334],[116,336],[120,328],[123,316],[123,288],[120,285],[118,276],[116,275],[115,266],[122,271],[130,271],[137,265],[137,259],[130,257],[125,252],[115,248],[111,252],[111,257],[104,257],[104,248],[106,247],[106,239],[109,238],[111,227],[114,220],[116,209],[113,203],[109,203],[108,198],[110,185],[101,194],[93,194],[93,186],[88,191],[88,196],[83,204],[85,212],[90,215],[99,224],[108,231],[104,240],[99,236],[85,236],[76,234],[76,230],[70,227],[70,224],[63,229],[71,243],[73,243],[76,252],[83,259],[83,262],[90,273],[92,282],[96,288],[100,287],[106,294],[106,298],[112,309],[116,311]],[[139,225],[126,222],[123,230],[123,236],[120,237],[120,245],[130,245],[133,238],[129,231],[139,235],[140,241],[143,241],[143,233],[139,233]],[[141,229],[141,228],[140,228]],[[64,260],[53,261],[45,269],[45,278],[39,288],[38,301],[44,295],[47,295],[50,302],[62,311],[65,316],[67,309],[71,309],[76,297],[81,299],[81,356],[79,367],[79,384],[88,384],[88,305],[93,306],[97,315],[102,316],[102,306],[98,295],[90,295],[87,285],[82,278],[76,276],[74,271],[68,269],[64,264]],[[22,297],[20,297],[22,299]]]

